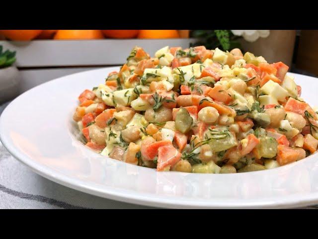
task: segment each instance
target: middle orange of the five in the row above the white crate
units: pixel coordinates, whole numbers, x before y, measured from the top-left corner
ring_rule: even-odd
[[[100,30],[58,30],[54,36],[56,40],[78,40],[78,39],[102,39]]]

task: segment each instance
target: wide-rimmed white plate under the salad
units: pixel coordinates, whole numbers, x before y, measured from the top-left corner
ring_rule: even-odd
[[[118,67],[65,76],[17,97],[2,113],[0,139],[36,173],[118,201],[167,208],[290,208],[318,204],[318,157],[237,174],[156,172],[103,157],[77,140],[77,97]],[[318,79],[295,74],[312,106]],[[318,105],[318,104],[317,104]]]

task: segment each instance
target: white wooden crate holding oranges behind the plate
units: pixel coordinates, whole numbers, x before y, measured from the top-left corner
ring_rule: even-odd
[[[192,38],[0,41],[16,51],[21,73],[20,92],[46,81],[80,71],[122,65],[134,46],[149,54],[164,46],[189,47]]]

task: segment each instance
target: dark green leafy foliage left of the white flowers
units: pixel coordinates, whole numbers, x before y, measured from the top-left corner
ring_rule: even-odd
[[[238,41],[240,36],[236,36],[231,30],[192,30],[190,37],[197,38],[197,41],[191,46],[204,45],[207,49],[220,48],[228,51],[233,48],[240,48]]]

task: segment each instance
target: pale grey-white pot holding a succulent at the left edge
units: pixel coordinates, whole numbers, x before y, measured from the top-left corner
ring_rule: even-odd
[[[19,94],[20,74],[15,66],[0,68],[0,104]]]

